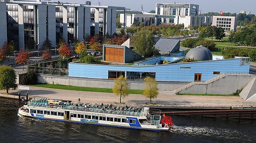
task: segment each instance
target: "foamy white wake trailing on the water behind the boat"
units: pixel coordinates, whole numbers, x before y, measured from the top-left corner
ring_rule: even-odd
[[[197,136],[202,138],[212,138],[214,140],[243,139],[248,138],[246,134],[236,130],[219,129],[217,127],[198,127],[173,125],[170,130],[172,133],[182,134],[183,136]]]

